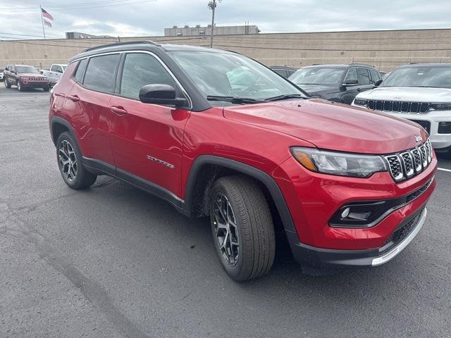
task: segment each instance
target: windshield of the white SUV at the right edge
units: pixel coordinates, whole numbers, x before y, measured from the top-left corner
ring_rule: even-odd
[[[381,87],[451,88],[451,66],[397,68],[383,80]]]

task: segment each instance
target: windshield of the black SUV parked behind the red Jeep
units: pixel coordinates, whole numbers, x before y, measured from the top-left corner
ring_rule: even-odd
[[[295,84],[340,84],[345,68],[311,67],[301,68],[288,77]]]

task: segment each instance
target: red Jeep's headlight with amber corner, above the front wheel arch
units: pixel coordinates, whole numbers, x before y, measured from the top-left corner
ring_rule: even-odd
[[[373,173],[387,171],[383,158],[376,155],[347,154],[301,147],[292,147],[291,153],[304,168],[317,173],[370,177]]]

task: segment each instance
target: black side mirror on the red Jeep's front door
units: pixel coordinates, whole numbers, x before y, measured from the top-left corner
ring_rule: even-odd
[[[140,101],[161,106],[184,106],[186,99],[176,97],[174,87],[169,84],[146,84],[140,89]]]

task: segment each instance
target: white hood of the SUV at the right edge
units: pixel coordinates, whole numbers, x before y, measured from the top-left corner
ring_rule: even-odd
[[[414,102],[451,102],[451,89],[378,87],[357,95],[358,99]]]

